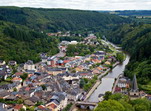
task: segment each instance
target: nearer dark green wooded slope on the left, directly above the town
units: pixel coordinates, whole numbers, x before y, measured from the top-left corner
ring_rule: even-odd
[[[58,52],[58,40],[25,26],[0,21],[0,58],[6,61],[39,61],[40,52]]]

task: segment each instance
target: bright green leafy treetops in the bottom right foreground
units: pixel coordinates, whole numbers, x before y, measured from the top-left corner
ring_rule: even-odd
[[[104,101],[94,111],[150,111],[151,102],[147,99],[130,100],[121,93],[106,92]]]

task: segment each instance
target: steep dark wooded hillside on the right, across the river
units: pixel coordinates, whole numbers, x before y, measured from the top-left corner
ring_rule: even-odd
[[[112,30],[110,41],[131,54],[125,74],[137,75],[140,88],[151,93],[151,24],[126,24]]]

